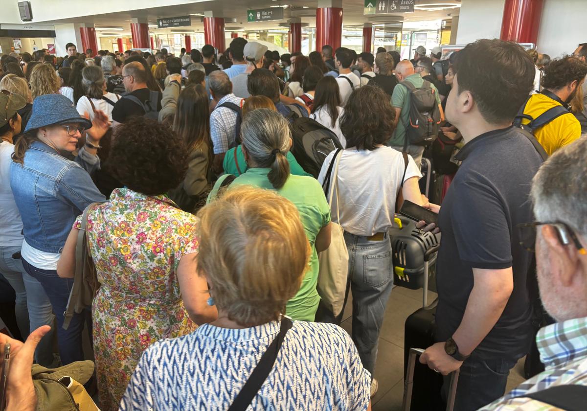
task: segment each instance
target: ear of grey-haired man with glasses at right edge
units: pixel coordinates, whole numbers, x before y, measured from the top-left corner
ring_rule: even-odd
[[[554,226],[542,225],[541,234],[546,247],[548,247],[546,255],[556,260],[551,264],[553,269],[550,274],[556,282],[564,287],[571,287],[573,282],[578,280],[578,274],[580,277],[583,276],[585,261],[579,258],[579,253],[572,243],[562,244],[561,237]]]

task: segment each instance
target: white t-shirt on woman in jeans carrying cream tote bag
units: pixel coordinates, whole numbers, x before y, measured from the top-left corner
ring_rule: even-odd
[[[322,184],[336,151],[322,164],[318,181]],[[396,197],[404,173],[402,153],[382,146],[375,150],[342,151],[338,169],[340,225],[349,233],[370,236],[385,233],[393,226]],[[334,172],[334,170],[332,170]],[[408,156],[404,181],[421,177],[414,159]],[[332,201],[332,221],[336,221],[336,197]]]

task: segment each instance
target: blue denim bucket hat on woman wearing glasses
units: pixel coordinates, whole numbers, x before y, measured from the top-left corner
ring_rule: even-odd
[[[92,122],[80,116],[68,97],[60,94],[45,94],[36,97],[33,101],[33,110],[26,124],[25,133],[41,127],[67,123],[82,123],[86,129],[92,127]]]

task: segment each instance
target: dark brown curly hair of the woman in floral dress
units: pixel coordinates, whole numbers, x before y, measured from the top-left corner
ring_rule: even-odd
[[[166,124],[135,117],[117,126],[112,140],[107,167],[124,186],[157,196],[183,181],[188,150]]]

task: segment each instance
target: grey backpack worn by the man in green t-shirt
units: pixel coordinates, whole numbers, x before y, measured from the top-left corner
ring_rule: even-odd
[[[408,145],[428,146],[436,140],[440,124],[436,90],[426,80],[421,87],[416,87],[409,81],[402,82],[402,85],[406,86],[410,104],[404,151]]]

